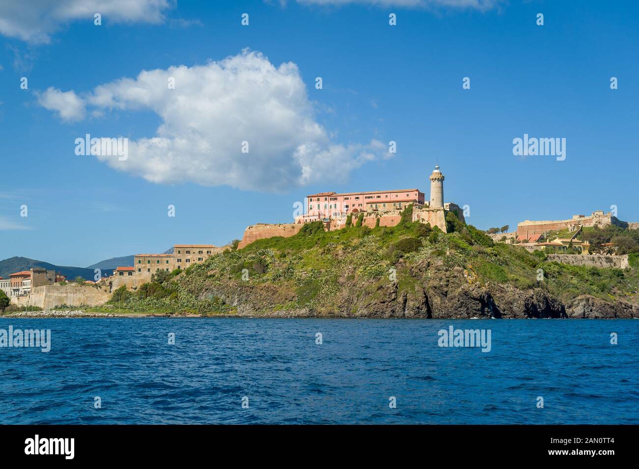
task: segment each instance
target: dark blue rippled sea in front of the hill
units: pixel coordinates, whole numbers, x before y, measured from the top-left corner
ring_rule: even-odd
[[[0,348],[3,424],[639,423],[639,320],[0,318],[10,325],[50,329],[51,349]],[[489,329],[490,352],[438,346],[449,325]]]

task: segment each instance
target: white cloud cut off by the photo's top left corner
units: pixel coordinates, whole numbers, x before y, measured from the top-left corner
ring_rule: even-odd
[[[0,34],[31,43],[48,43],[64,24],[93,15],[106,22],[160,23],[168,0],[27,0],[0,1]]]

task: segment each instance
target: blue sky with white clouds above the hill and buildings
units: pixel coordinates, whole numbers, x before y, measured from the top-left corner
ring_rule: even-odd
[[[317,191],[428,193],[436,161],[479,228],[639,221],[634,2],[95,0],[95,26],[75,1],[0,6],[0,258],[222,245]],[[87,133],[129,138],[130,160],[77,156]],[[525,133],[566,138],[566,160],[514,156]]]

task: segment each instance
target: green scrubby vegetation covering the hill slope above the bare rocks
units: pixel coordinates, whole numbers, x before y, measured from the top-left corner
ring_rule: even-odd
[[[227,302],[236,301],[273,311],[330,310],[338,302],[382,299],[389,272],[396,274],[398,298],[444,272],[465,272],[462,282],[481,287],[539,288],[563,301],[581,294],[606,301],[637,294],[638,255],[631,256],[633,269],[626,271],[557,264],[543,251],[495,244],[450,212],[447,233],[413,222],[412,205],[395,227],[369,228],[362,222],[360,214],[355,225],[351,217],[348,226],[334,231],[326,231],[321,221],[307,223],[291,237],[259,239],[185,271],[158,274],[133,294],[116,290],[121,302],[113,302],[132,311],[201,314],[233,314],[236,309]]]

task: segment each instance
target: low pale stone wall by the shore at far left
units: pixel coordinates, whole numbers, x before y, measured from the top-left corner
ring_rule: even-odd
[[[96,287],[79,285],[42,285],[31,290],[31,295],[20,297],[15,301],[18,306],[38,306],[52,309],[61,304],[69,306],[99,306],[109,301],[111,295]],[[12,301],[14,301],[12,299]]]

